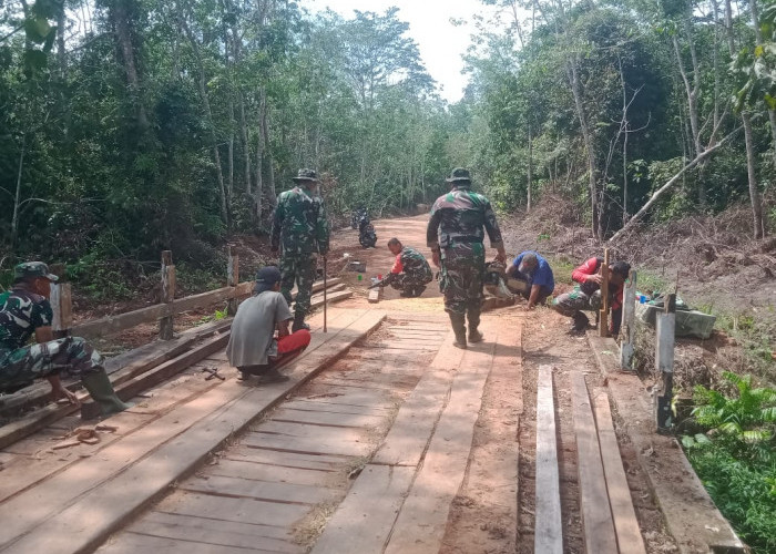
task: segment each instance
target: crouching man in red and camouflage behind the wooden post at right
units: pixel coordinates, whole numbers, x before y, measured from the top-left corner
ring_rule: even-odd
[[[573,319],[571,332],[582,332],[590,324],[590,319],[581,310],[598,311],[601,309],[602,265],[603,258],[596,257],[590,258],[579,266],[571,274],[571,278],[579,285],[574,287],[573,291],[560,295],[552,301],[552,309]],[[630,271],[631,266],[625,261],[615,261],[609,268],[609,304],[612,310],[610,331],[614,336],[620,332],[623,285]]]

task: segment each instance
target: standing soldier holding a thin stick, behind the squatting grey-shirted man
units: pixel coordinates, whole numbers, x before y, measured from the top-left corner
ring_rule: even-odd
[[[308,329],[305,316],[310,311],[318,254],[329,249],[329,227],[324,201],[313,192],[318,176],[313,170],[299,170],[294,177],[296,186],[277,198],[272,226],[272,252],[282,249],[280,293],[292,305],[290,291],[297,285],[294,325],[292,331]]]

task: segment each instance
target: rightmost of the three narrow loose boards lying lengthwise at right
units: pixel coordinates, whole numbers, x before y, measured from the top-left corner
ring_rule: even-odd
[[[633,509],[627,476],[620,458],[620,445],[617,444],[617,435],[614,433],[612,413],[609,407],[609,393],[604,389],[593,391],[593,406],[603,471],[606,478],[606,491],[609,491],[609,502],[612,505],[620,554],[646,554],[641,526]]]

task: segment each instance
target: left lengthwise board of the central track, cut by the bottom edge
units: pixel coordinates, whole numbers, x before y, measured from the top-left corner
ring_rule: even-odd
[[[364,468],[312,554],[382,552],[413,474],[415,468]]]

